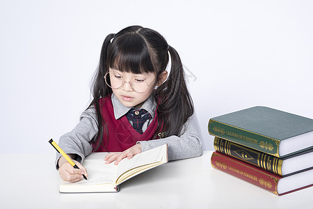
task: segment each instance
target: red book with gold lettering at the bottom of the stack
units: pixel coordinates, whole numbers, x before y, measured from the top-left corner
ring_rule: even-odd
[[[313,169],[282,177],[216,151],[211,156],[211,165],[278,195],[313,186]]]

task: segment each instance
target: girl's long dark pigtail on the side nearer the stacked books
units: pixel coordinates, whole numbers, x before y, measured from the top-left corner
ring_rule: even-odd
[[[168,47],[168,52],[172,63],[170,75],[155,92],[157,104],[159,104],[157,109],[159,127],[157,130],[163,123],[164,137],[182,134],[184,123],[193,114],[193,101],[186,86],[182,61],[173,47]]]

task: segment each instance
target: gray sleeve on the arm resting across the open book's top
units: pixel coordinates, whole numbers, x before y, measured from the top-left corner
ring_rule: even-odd
[[[202,140],[195,114],[188,118],[183,130],[184,132],[180,137],[170,136],[163,139],[138,141],[138,143],[141,144],[142,151],[168,144],[168,160],[180,160],[202,155]]]

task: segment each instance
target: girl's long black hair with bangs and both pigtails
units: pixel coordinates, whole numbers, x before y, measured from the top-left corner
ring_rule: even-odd
[[[154,72],[159,79],[159,75],[168,65],[168,52],[172,63],[170,75],[166,82],[152,93],[157,102],[158,116],[158,128],[154,133],[154,139],[157,139],[162,125],[163,137],[179,136],[184,132],[184,123],[193,114],[193,102],[186,87],[184,69],[178,53],[157,31],[142,26],[129,26],[116,34],[106,36],[93,78],[93,101],[90,106],[95,105],[97,114],[99,132],[93,141],[97,148],[104,144],[102,141],[104,132],[109,136],[105,118],[102,118],[99,107],[99,99],[112,93],[112,89],[104,81],[106,72],[109,68],[134,74]],[[109,137],[106,138],[109,140]]]

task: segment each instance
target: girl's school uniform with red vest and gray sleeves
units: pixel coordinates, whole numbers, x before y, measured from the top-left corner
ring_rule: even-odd
[[[168,144],[168,160],[179,160],[202,155],[202,141],[198,132],[198,121],[196,121],[195,116],[188,118],[188,121],[186,121],[184,128],[182,129],[184,132],[180,137],[170,136],[163,139],[148,139],[150,135],[152,137],[154,134],[154,131],[156,130],[155,125],[157,122],[155,111],[157,109],[157,103],[154,101],[152,96],[145,100],[141,107],[141,109],[145,109],[147,113],[150,114],[150,118],[148,118],[147,121],[143,123],[142,135],[134,130],[134,127],[132,127],[134,125],[132,121],[128,121],[128,119],[125,117],[131,107],[125,107],[123,104],[121,104],[118,98],[114,96],[114,94],[111,95],[111,100],[110,98],[104,98],[99,102],[102,104],[102,108],[105,107],[105,111],[102,111],[102,115],[105,113],[109,114],[109,120],[115,124],[115,127],[109,127],[109,131],[111,130],[109,132],[109,137],[112,136],[112,139],[118,139],[116,141],[110,140],[109,138],[109,149],[105,149],[104,146],[99,151],[122,151],[131,146],[134,146],[136,143],[141,143],[142,151],[145,151],[156,148],[157,146],[161,146],[163,144]],[[128,122],[129,124],[125,122]],[[116,130],[117,128],[119,128],[118,132],[123,134],[122,138],[119,138],[115,132],[112,131]],[[127,130],[125,130],[125,128]],[[145,132],[146,130],[147,132]],[[161,132],[165,130],[158,131]],[[58,144],[65,153],[74,154],[76,156],[74,160],[83,162],[83,159],[92,153],[96,147],[96,145],[92,142],[95,139],[97,132],[97,114],[95,107],[92,105],[86,109],[86,111],[83,111],[77,126],[74,127],[71,132],[68,132],[60,137]],[[125,137],[127,134],[130,138]],[[131,134],[134,134],[134,136],[131,136]],[[123,141],[125,140],[126,143],[123,144]],[[106,144],[106,141],[104,141],[104,144]],[[57,169],[57,162],[59,157],[61,157],[61,155],[57,153]]]

